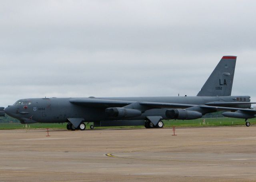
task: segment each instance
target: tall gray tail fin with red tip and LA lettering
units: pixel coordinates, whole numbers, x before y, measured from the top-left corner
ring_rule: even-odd
[[[223,56],[197,96],[230,96],[236,56]]]

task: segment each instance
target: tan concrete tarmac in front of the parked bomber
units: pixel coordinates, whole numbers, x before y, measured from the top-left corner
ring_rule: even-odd
[[[0,130],[0,182],[252,182],[256,127]]]

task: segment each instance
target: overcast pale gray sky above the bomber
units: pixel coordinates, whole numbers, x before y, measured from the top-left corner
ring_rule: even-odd
[[[256,1],[0,0],[0,106],[21,98],[195,96],[223,55],[256,102]]]

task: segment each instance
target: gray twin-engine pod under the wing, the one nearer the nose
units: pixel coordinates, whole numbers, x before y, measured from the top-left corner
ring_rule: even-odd
[[[141,115],[141,111],[126,108],[106,108],[105,114],[108,117],[136,117]]]

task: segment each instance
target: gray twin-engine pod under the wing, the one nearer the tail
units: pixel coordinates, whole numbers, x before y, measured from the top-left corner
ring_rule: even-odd
[[[166,110],[165,115],[169,119],[198,119],[202,117],[200,112],[181,109]]]

